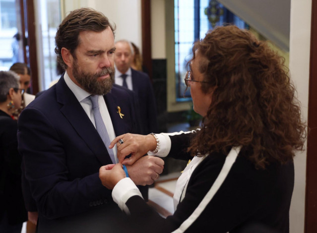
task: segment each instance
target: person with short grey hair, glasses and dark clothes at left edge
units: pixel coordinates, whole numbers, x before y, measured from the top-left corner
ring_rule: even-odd
[[[24,89],[19,76],[0,71],[0,232],[21,233],[27,212],[21,190],[21,156],[17,150],[17,121],[12,114],[21,106]]]

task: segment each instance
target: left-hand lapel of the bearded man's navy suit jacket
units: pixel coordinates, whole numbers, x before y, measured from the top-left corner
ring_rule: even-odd
[[[101,164],[112,164],[107,148],[96,128],[82,109],[75,95],[66,85],[63,77],[56,85],[57,101],[62,104],[61,112],[85,141],[88,148],[96,155]]]

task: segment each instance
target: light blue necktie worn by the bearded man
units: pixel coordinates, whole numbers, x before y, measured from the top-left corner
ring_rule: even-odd
[[[94,112],[96,129],[97,129],[102,141],[104,142],[104,144],[108,150],[108,153],[110,155],[112,162],[115,164],[116,160],[115,160],[114,152],[112,149],[109,149],[110,138],[108,135],[108,131],[107,131],[106,125],[104,124],[104,121],[102,120],[102,117],[100,114],[99,105],[98,105],[98,96],[91,95],[88,98],[90,99],[91,104],[92,104],[92,110]]]

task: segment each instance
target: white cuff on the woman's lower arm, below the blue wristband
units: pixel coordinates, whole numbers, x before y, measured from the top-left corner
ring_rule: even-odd
[[[112,198],[118,204],[119,208],[125,211],[126,214],[130,214],[126,202],[130,197],[135,195],[142,197],[140,190],[133,181],[127,177],[121,179],[112,190]]]

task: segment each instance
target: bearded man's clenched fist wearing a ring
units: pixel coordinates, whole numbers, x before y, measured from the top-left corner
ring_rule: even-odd
[[[132,166],[127,166],[129,177],[137,185],[152,184],[163,169],[164,161],[155,156],[143,156]]]

